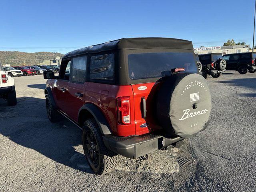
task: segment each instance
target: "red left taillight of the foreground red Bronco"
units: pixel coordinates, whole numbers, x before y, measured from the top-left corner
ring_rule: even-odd
[[[120,97],[117,99],[118,122],[122,124],[130,124],[130,98]]]

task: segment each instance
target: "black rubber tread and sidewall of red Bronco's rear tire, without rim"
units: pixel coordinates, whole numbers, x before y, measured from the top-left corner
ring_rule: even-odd
[[[91,132],[96,141],[96,145],[98,146],[98,163],[94,164],[89,156],[89,150],[86,144],[86,134]],[[101,175],[110,172],[117,164],[117,156],[114,152],[108,150],[104,145],[102,134],[100,133],[100,129],[98,124],[94,119],[89,119],[84,122],[83,131],[82,131],[82,143],[84,148],[84,154],[86,156],[86,160],[94,173]]]

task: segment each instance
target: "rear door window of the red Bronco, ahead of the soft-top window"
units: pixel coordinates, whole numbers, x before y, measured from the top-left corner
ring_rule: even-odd
[[[86,80],[86,61],[87,56],[76,57],[72,60],[71,81],[84,83]]]

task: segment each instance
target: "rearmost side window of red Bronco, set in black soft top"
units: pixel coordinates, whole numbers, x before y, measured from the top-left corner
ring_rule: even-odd
[[[114,54],[91,57],[90,79],[113,80]]]

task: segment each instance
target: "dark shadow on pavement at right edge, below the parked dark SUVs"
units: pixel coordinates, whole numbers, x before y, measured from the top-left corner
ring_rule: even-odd
[[[244,97],[256,97],[255,93],[239,93],[239,87],[248,88],[252,91],[256,90],[256,78],[242,78],[242,79],[232,79],[226,81],[219,81],[219,83],[224,83],[229,86],[234,86],[238,88],[238,95]]]

